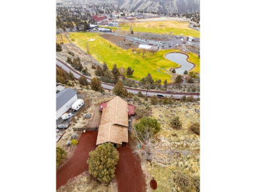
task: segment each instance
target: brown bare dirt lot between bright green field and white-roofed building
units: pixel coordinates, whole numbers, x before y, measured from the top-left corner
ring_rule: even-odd
[[[138,48],[139,46],[139,43],[133,43],[129,41],[129,39],[126,39],[125,37],[110,35],[110,34],[102,34],[100,36],[126,50],[129,48]]]

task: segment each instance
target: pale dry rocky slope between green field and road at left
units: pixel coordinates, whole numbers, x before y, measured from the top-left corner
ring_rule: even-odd
[[[69,51],[74,52],[74,56],[69,54],[68,53]],[[92,69],[92,66],[93,65],[97,66],[98,64],[92,58],[90,58],[84,52],[82,52],[79,48],[75,47],[71,43],[66,43],[66,44],[62,45],[62,51],[56,52],[56,58],[58,58],[62,62],[65,62],[66,64],[68,64],[66,62],[68,57],[72,58],[72,60],[73,60],[77,56],[79,56],[79,58],[81,60],[81,64],[83,65],[83,67],[87,67],[88,72],[91,73],[92,77],[94,77],[95,76],[95,70]],[[68,64],[68,65],[70,65],[70,64]]]

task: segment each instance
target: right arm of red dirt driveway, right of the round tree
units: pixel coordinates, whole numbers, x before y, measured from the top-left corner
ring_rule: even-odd
[[[144,192],[146,191],[145,177],[140,162],[129,143],[127,146],[117,148],[119,161],[116,166],[116,180],[118,192]]]

